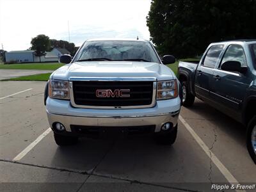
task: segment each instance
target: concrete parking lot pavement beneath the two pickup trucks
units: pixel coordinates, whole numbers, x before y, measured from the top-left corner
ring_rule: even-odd
[[[0,82],[0,191],[211,191],[212,183],[256,182],[243,126],[200,100],[182,108],[171,147],[134,136],[60,148],[44,86]]]

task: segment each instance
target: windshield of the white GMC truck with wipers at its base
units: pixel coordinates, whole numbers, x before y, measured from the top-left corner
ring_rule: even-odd
[[[85,42],[76,61],[148,61],[159,63],[149,42],[140,41],[90,41]]]

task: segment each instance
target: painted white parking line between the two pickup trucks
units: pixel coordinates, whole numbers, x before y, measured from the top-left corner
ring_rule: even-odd
[[[196,134],[196,132],[190,127],[190,125],[184,120],[184,118],[182,118],[181,115],[179,116],[179,120],[186,127],[186,129],[190,132],[190,134],[196,140],[198,145],[200,145],[200,147],[204,150],[205,154],[207,154],[207,156],[212,159],[212,162],[218,167],[218,169],[224,175],[224,177],[228,180],[228,182],[230,184],[234,184],[235,186],[237,184],[239,184],[239,182],[232,175],[232,173],[230,173],[228,171],[228,169],[224,166],[224,164],[221,163],[221,161],[218,159],[218,157],[216,157],[215,154],[212,152],[212,150],[209,149],[209,147],[207,147],[207,145],[204,143],[204,141],[201,140],[201,138],[198,136],[198,134]],[[236,190],[236,191],[243,191],[243,190]]]

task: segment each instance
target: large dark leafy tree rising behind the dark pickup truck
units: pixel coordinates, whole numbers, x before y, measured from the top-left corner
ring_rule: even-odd
[[[187,58],[211,42],[256,37],[256,0],[152,0],[147,26],[160,54]]]

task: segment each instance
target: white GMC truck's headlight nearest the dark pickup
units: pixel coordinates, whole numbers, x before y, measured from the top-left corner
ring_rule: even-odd
[[[177,80],[157,82],[157,100],[178,97]]]

